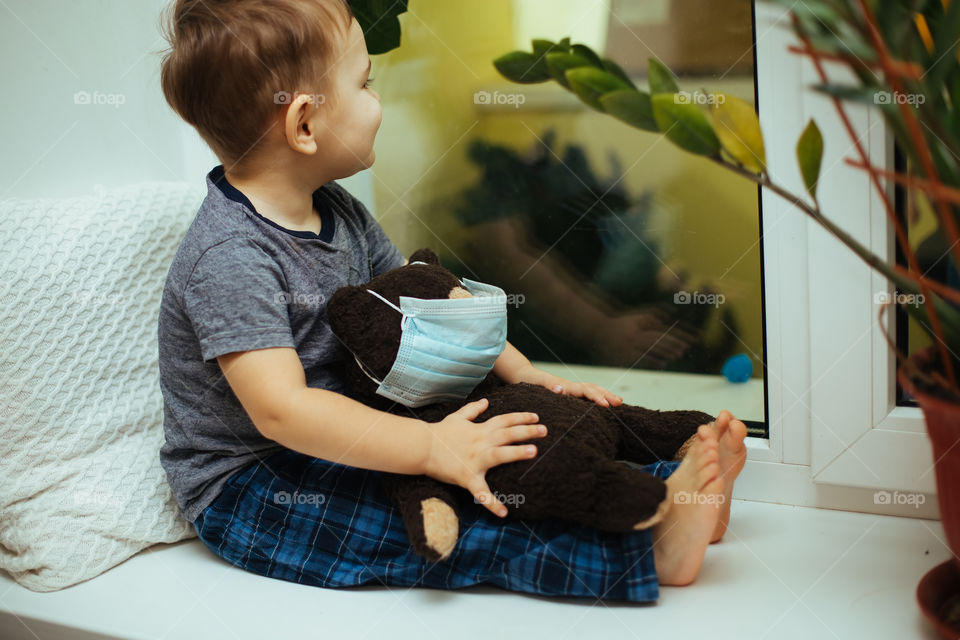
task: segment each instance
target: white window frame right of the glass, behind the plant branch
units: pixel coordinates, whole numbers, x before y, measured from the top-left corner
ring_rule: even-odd
[[[812,117],[824,137],[818,198],[831,220],[881,256],[893,233],[832,102],[811,87],[809,60],[783,7],[756,2],[758,107],[773,180],[805,193],[796,141]],[[836,66],[832,77],[842,77]],[[848,108],[873,163],[892,166],[879,112]],[[731,179],[736,179],[731,177]],[[748,438],[734,497],[853,511],[936,517],[930,442],[919,409],[896,407],[895,357],[878,321],[886,280],[778,195],[761,190],[769,438]],[[885,323],[893,331],[893,310]],[[886,501],[878,490],[895,497]],[[919,500],[897,504],[896,493]],[[917,506],[917,502],[922,504]]]

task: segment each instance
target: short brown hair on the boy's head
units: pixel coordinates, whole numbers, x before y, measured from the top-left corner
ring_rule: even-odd
[[[294,91],[319,89],[351,18],[345,0],[176,0],[163,94],[235,166]]]

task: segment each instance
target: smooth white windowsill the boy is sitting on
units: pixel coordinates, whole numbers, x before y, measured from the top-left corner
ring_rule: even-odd
[[[942,541],[938,522],[735,501],[698,580],[637,606],[489,587],[318,589],[246,573],[191,540],[53,593],[0,575],[0,637],[933,640],[914,593],[949,557]]]

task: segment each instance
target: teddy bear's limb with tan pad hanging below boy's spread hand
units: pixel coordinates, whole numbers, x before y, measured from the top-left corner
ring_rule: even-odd
[[[384,488],[400,510],[417,555],[430,562],[449,557],[457,544],[460,519],[447,487],[425,476],[383,476]]]

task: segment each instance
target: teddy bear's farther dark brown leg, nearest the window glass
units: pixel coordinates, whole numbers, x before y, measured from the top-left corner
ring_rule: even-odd
[[[697,427],[714,417],[702,411],[655,411],[621,405],[613,411],[620,419],[617,457],[637,464],[657,460],[682,460],[693,443]]]

